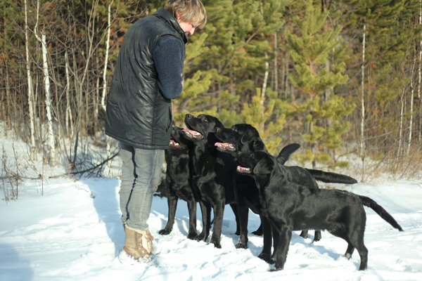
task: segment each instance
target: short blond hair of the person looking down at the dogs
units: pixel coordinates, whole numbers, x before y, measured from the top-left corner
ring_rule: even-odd
[[[200,0],[169,0],[164,8],[179,22],[203,28],[207,23],[207,13]]]

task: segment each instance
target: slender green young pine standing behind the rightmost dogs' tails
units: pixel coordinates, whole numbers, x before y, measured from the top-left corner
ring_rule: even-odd
[[[344,122],[340,126],[340,120],[354,110],[354,105],[346,105],[344,98],[335,93],[331,94],[328,101],[321,99],[327,89],[345,84],[348,79],[343,74],[345,63],[333,62],[331,70],[326,67],[328,55],[333,55],[333,50],[342,43],[338,37],[341,26],[338,25],[334,30],[328,28],[324,32],[328,12],[321,12],[321,6],[314,6],[312,0],[306,2],[305,11],[304,19],[298,16],[294,18],[300,34],[286,30],[285,47],[295,61],[296,74],[290,74],[290,81],[308,96],[307,101],[298,106],[298,112],[306,116],[303,122],[307,133],[302,137],[310,147],[310,152],[298,155],[298,158],[302,162],[312,161],[315,167],[317,161],[331,162],[328,150],[343,145],[340,136],[350,129],[350,124]]]

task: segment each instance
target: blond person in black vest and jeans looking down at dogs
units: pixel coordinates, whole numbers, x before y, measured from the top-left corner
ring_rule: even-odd
[[[170,143],[172,99],[183,89],[186,35],[206,21],[199,0],[170,0],[135,22],[120,48],[107,102],[106,134],[120,141],[123,249],[134,259],[148,257],[153,250],[146,221]]]

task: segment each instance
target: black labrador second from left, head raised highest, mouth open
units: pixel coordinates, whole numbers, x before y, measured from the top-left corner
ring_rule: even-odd
[[[214,209],[214,226],[210,243],[221,248],[222,222],[224,205],[230,204],[236,216],[238,227],[238,210],[234,198],[233,176],[236,165],[228,153],[219,152],[215,147],[218,141],[215,128],[224,127],[222,122],[211,115],[186,115],[184,137],[193,142],[192,153],[192,188],[197,192],[201,209],[205,208],[203,221],[210,227],[210,210]],[[248,210],[246,210],[248,211]],[[205,216],[205,218],[204,218]],[[197,240],[206,240],[198,236]]]

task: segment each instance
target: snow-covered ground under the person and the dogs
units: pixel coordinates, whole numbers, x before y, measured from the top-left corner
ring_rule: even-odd
[[[9,166],[15,154],[27,157],[26,145],[11,138],[0,138],[2,147]],[[117,158],[113,165],[118,174]],[[0,201],[0,280],[422,280],[422,178],[336,187],[376,200],[404,229],[395,230],[365,208],[367,270],[358,270],[357,251],[349,261],[343,257],[344,240],[324,231],[313,243],[314,231],[309,231],[307,240],[293,233],[284,270],[269,272],[272,266],[257,258],[262,237],[251,234],[260,226],[258,216],[250,213],[248,249],[235,249],[236,221],[226,208],[222,249],[216,249],[186,238],[188,209],[181,200],[172,233],[158,234],[167,223],[165,197],[154,197],[148,220],[160,253],[141,263],[121,262],[119,178],[49,178],[64,169],[40,164],[25,174],[31,177],[41,169],[43,181],[26,179],[18,186],[18,200]],[[1,198],[6,186],[0,181]],[[199,207],[197,216],[199,233]]]

